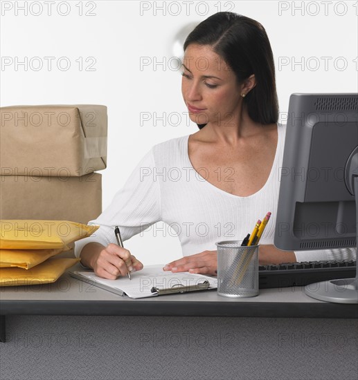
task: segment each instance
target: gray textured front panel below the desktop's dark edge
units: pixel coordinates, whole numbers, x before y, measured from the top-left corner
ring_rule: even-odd
[[[357,321],[10,316],[2,380],[357,380]]]

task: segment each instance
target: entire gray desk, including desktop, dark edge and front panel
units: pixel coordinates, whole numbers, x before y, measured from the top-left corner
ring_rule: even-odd
[[[132,300],[66,273],[0,288],[0,314],[1,379],[357,379],[357,305],[301,287]]]

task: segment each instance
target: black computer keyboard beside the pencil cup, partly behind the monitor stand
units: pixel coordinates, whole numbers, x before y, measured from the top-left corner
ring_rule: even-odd
[[[259,288],[302,286],[337,278],[355,278],[357,262],[310,261],[259,265]]]

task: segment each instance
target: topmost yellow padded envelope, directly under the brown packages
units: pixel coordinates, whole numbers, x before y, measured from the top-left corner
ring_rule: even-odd
[[[0,220],[0,249],[63,249],[99,226],[68,220]]]

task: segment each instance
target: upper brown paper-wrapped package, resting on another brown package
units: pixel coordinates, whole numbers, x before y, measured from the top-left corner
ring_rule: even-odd
[[[0,175],[79,177],[107,166],[107,107],[0,108]]]

